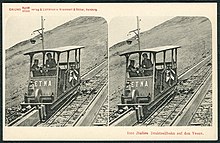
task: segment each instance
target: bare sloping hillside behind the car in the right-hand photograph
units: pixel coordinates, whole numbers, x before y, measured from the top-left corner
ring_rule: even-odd
[[[174,17],[149,31],[140,34],[141,49],[164,45],[179,45],[178,74],[211,54],[211,23],[205,17]],[[127,45],[125,41],[110,47],[109,65],[110,108],[120,103],[125,75],[125,57],[118,54],[138,49],[137,42]],[[111,110],[111,109],[110,109]]]

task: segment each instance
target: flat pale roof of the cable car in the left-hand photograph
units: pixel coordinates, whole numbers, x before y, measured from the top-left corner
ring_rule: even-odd
[[[81,48],[85,48],[85,47],[84,46],[65,46],[65,47],[58,47],[58,48],[52,48],[52,49],[30,51],[30,52],[26,52],[24,55],[31,55],[31,54],[41,53],[41,52],[63,53],[63,52],[77,50]]]

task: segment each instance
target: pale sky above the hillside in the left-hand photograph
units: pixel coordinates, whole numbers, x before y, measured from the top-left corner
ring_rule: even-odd
[[[51,30],[61,24],[75,19],[76,16],[44,16],[45,31]],[[5,23],[5,48],[30,39],[37,35],[31,35],[34,30],[41,28],[40,16],[13,16]]]

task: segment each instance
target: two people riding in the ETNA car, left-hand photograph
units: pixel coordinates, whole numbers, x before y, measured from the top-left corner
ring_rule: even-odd
[[[34,64],[31,67],[31,71],[33,73],[33,77],[41,76],[42,75],[43,69],[40,68],[38,64],[39,64],[39,60],[35,59],[34,60]],[[56,67],[56,61],[55,61],[55,59],[52,58],[52,54],[51,53],[47,53],[47,60],[46,60],[46,65],[45,66],[46,66],[47,69],[49,69],[47,75],[55,74],[54,70],[50,70],[50,69]]]

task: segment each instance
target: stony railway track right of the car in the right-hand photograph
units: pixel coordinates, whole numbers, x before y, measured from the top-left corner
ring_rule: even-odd
[[[195,96],[198,89],[211,74],[211,66],[206,64],[184,81],[180,81],[177,92],[165,105],[147,118],[145,126],[171,126]]]

